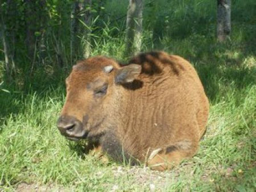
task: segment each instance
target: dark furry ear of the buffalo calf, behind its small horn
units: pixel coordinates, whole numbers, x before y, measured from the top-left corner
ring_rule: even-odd
[[[130,83],[134,81],[141,73],[141,65],[130,64],[117,70],[115,74],[115,83]]]

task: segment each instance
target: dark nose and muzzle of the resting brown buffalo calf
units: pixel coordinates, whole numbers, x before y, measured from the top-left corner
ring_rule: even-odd
[[[67,137],[81,138],[85,133],[81,121],[77,120],[74,116],[60,116],[57,122],[57,127],[61,134]]]

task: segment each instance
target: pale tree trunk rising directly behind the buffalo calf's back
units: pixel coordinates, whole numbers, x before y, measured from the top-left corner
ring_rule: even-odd
[[[140,52],[143,0],[129,0],[126,19],[125,56],[133,56]]]

